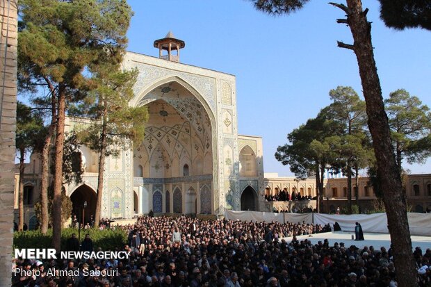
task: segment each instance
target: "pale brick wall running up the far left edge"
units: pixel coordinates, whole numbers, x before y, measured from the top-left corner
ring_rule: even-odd
[[[0,13],[0,286],[10,286],[17,101],[17,1],[0,0]]]

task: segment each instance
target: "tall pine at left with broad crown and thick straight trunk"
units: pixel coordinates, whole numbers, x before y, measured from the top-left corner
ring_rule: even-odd
[[[60,250],[65,115],[93,88],[92,72],[109,58],[120,63],[131,9],[125,0],[19,1],[18,51],[26,77],[56,91],[53,247]]]

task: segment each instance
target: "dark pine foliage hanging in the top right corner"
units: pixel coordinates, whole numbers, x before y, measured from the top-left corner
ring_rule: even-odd
[[[384,24],[397,30],[424,28],[431,30],[430,0],[379,0]]]

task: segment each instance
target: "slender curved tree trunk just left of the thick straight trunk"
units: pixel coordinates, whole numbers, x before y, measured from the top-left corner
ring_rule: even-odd
[[[42,234],[46,234],[49,227],[49,211],[48,211],[48,188],[49,188],[49,151],[51,150],[51,139],[54,136],[57,108],[56,108],[56,90],[52,85],[51,81],[47,77],[44,78],[48,84],[49,90],[51,91],[51,124],[47,137],[44,140],[42,153],[40,155],[40,161],[42,166],[40,168],[41,180],[40,180],[40,231]]]

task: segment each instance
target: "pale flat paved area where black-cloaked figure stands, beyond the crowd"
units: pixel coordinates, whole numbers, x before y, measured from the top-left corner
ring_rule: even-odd
[[[362,249],[364,246],[370,247],[371,245],[374,246],[375,250],[380,249],[382,246],[389,249],[391,245],[391,237],[387,233],[364,233],[365,240],[363,241],[352,240],[352,236],[355,236],[355,232],[333,231],[312,234],[311,237],[309,237],[309,235],[297,236],[297,239],[300,241],[308,239],[313,244],[317,244],[320,240],[323,241],[327,239],[330,246],[334,246],[336,242],[342,242],[346,248],[350,247],[350,245],[356,245],[359,249]],[[286,237],[284,239],[290,243],[292,237]],[[431,248],[431,236],[412,236],[412,247],[413,249],[415,247],[421,247],[422,251],[425,252],[427,248]]]

